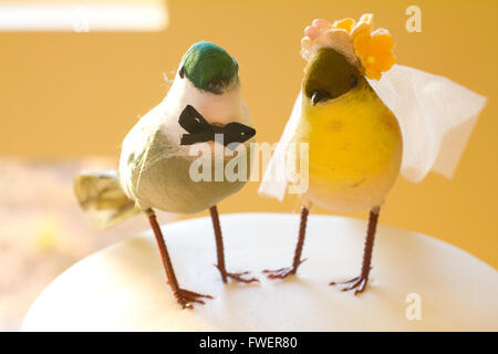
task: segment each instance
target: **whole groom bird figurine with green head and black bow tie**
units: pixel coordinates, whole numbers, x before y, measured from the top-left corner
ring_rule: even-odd
[[[237,61],[224,49],[208,42],[194,44],[184,55],[164,101],[144,115],[126,135],[118,173],[82,174],[75,191],[85,209],[96,209],[105,225],[145,212],[155,233],[168,282],[178,302],[191,306],[210,298],[179,287],[154,209],[193,214],[210,209],[218,252],[217,268],[224,282],[228,278],[252,282],[247,273],[227,272],[224,243],[216,205],[237,192],[246,179],[221,180],[191,177],[199,158],[190,148],[203,145],[210,153],[210,169],[216,160],[221,168],[230,160],[249,160],[246,147],[256,131],[242,100]],[[221,136],[219,142],[216,136]],[[225,154],[225,146],[237,154]],[[211,171],[209,170],[209,175]],[[247,171],[249,174],[249,171]]]

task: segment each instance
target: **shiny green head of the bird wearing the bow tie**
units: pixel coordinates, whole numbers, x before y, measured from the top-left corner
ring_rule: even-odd
[[[187,77],[199,90],[224,93],[238,82],[239,65],[222,48],[198,42],[181,59],[179,76]]]

